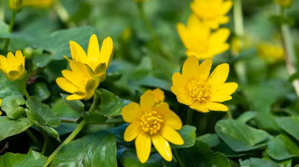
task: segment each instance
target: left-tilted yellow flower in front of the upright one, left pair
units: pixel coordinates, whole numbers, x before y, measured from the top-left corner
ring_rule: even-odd
[[[63,70],[64,77],[56,79],[57,85],[66,92],[73,93],[67,100],[88,100],[99,86],[99,78],[81,62],[70,60],[70,70]]]

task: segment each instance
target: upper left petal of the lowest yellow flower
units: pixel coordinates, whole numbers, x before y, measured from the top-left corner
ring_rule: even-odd
[[[128,104],[122,109],[123,119],[128,123],[135,122],[140,113],[141,110],[139,105],[134,102]]]

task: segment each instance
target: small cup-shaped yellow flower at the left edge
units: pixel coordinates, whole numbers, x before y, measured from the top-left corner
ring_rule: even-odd
[[[7,58],[0,55],[0,69],[8,80],[21,80],[26,75],[25,57],[21,51],[17,51],[16,56],[9,52]]]

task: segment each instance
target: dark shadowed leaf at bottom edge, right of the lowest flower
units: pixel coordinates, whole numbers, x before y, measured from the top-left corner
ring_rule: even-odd
[[[186,167],[231,167],[225,155],[214,153],[200,140],[196,140],[193,147],[178,149],[177,152]]]

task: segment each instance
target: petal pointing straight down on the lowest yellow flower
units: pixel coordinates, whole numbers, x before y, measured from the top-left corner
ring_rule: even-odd
[[[149,133],[141,132],[135,140],[137,157],[141,163],[145,163],[149,159],[151,141]]]

